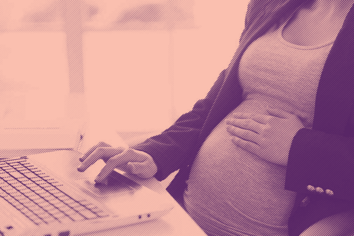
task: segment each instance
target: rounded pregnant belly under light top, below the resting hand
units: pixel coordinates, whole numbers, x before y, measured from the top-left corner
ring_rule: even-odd
[[[264,106],[257,108],[254,101],[246,101],[229,116],[249,112],[250,107],[264,111]],[[244,151],[231,139],[223,121],[204,142],[184,195],[187,209],[195,214],[203,209],[213,220],[233,228],[241,224],[240,215],[275,228],[286,227],[295,200],[295,193],[284,189],[286,167]]]

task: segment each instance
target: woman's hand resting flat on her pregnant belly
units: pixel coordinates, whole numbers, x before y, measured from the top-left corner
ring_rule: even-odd
[[[268,110],[268,115],[235,114],[227,124],[237,146],[283,166],[287,164],[293,137],[303,128],[297,116],[274,108]]]

